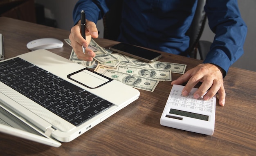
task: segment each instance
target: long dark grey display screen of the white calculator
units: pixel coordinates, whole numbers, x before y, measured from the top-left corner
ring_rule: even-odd
[[[181,110],[177,110],[177,109],[170,109],[169,113],[180,115],[180,116],[186,116],[186,117],[189,117],[189,118],[196,118],[196,119],[205,120],[205,121],[209,120],[209,116],[202,115],[202,114],[191,113],[191,112],[188,112],[188,111],[181,111]]]

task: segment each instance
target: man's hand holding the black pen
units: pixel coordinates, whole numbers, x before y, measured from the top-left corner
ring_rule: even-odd
[[[82,45],[84,47],[88,47],[92,38],[99,37],[98,29],[94,22],[86,20],[85,36],[86,40],[81,36],[81,21],[79,20],[77,25],[72,27],[70,32],[69,38],[71,40],[71,45],[79,60],[92,61],[95,53],[91,49],[86,48],[84,54],[82,50]]]

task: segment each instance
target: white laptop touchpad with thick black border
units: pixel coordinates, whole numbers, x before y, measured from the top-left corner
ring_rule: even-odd
[[[112,80],[86,68],[69,74],[67,77],[88,88],[97,88]]]

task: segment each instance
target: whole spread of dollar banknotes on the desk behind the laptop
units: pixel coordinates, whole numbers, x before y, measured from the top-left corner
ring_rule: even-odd
[[[69,39],[65,41],[71,45]],[[94,40],[91,40],[88,48],[96,54],[93,61],[79,60],[73,49],[70,60],[137,89],[154,91],[160,81],[171,81],[172,73],[184,74],[186,70],[186,65],[183,64],[160,61],[147,63],[120,53],[112,53]]]

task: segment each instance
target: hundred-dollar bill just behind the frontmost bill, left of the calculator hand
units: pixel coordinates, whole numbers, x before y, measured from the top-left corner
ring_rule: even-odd
[[[170,70],[145,69],[145,68],[141,68],[141,67],[131,67],[131,66],[118,66],[117,71],[120,71],[122,73],[136,75],[136,76],[141,76],[144,78],[153,78],[156,80],[171,81],[171,71]]]

